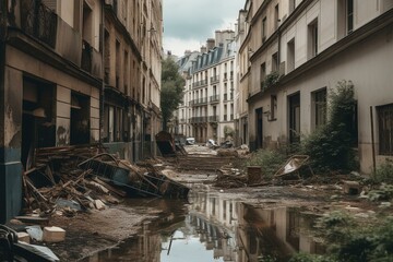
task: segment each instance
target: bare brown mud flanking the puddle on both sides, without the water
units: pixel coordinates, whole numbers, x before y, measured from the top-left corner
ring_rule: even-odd
[[[288,184],[274,187],[219,189],[213,187],[215,174],[198,171],[178,174],[172,168],[164,171],[182,183],[192,184],[196,192],[222,194],[257,207],[290,206],[302,207],[313,214],[334,210],[347,211],[359,219],[376,216],[378,206],[361,200],[358,195],[345,195],[336,184]],[[145,223],[159,217],[168,211],[165,204],[150,204],[154,200],[126,200],[104,211],[79,213],[74,217],[53,216],[50,225],[67,230],[66,241],[48,245],[61,261],[78,261],[94,253],[117,246],[120,241],[134,236]],[[392,212],[392,210],[384,212]]]

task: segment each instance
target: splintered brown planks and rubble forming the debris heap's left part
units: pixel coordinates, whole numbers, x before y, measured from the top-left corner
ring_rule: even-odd
[[[35,166],[23,174],[27,212],[73,216],[81,210],[103,210],[119,203],[117,196],[126,196],[124,191],[92,176],[91,169],[78,167],[80,162],[100,152],[100,145],[36,150]]]

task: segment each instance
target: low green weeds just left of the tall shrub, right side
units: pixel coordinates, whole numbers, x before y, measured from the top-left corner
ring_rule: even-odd
[[[265,178],[272,178],[286,160],[286,155],[278,151],[259,150],[243,165],[261,166]]]

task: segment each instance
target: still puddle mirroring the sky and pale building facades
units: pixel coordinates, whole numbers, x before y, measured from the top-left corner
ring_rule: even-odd
[[[84,261],[279,262],[298,251],[325,251],[308,230],[315,217],[299,209],[253,207],[206,192],[190,192],[189,201],[150,202],[164,207],[159,219]]]

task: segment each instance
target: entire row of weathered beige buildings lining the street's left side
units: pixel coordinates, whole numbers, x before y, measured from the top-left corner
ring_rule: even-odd
[[[131,160],[152,152],[160,1],[0,1],[0,223],[22,207],[35,148],[105,142]]]

